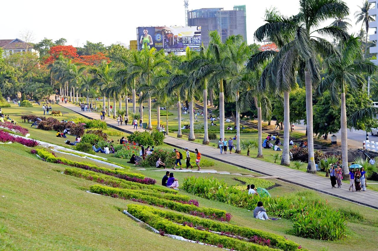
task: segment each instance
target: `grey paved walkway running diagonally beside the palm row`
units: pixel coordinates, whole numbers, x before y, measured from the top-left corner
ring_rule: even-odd
[[[59,105],[62,105],[63,107],[66,107],[78,114],[81,114],[84,117],[100,119],[99,113],[81,111],[81,108],[77,107],[76,105],[69,103]],[[107,122],[108,126],[121,130],[123,132],[132,133],[135,131],[130,124],[118,126],[117,121],[108,117],[105,118],[105,121]],[[266,176],[277,176],[278,179],[283,180],[285,182],[289,182],[291,184],[296,184],[302,187],[310,188],[321,193],[336,196],[338,198],[342,198],[361,205],[378,209],[378,192],[372,190],[350,192],[348,191],[349,185],[345,183],[342,184],[342,188],[332,188],[330,179],[324,177],[304,173],[291,168],[286,168],[280,165],[275,165],[273,163],[264,162],[262,160],[250,158],[240,154],[220,154],[218,149],[215,149],[213,147],[205,146],[191,141],[181,140],[179,138],[175,138],[172,136],[166,136],[164,143],[181,149],[188,147],[192,152],[194,152],[194,149],[197,148],[203,156],[213,158],[215,160],[219,160],[221,162],[228,163],[234,166],[239,166],[241,168],[249,169],[251,171],[264,174]]]

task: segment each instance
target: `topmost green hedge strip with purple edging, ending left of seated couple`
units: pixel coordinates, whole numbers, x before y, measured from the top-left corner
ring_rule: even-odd
[[[114,176],[116,178],[132,181],[132,182],[138,182],[143,184],[149,184],[153,185],[156,183],[156,180],[144,177],[143,174],[138,173],[130,173],[126,171],[121,171],[119,169],[108,169],[99,167],[90,163],[81,163],[81,162],[74,162],[71,160],[67,160],[65,158],[58,158],[53,155],[53,153],[46,151],[45,149],[36,149],[36,154],[38,154],[41,158],[45,159],[47,162],[51,163],[58,163],[68,166],[74,166],[77,168],[82,168],[90,171],[94,171],[97,173],[103,173],[110,176]]]

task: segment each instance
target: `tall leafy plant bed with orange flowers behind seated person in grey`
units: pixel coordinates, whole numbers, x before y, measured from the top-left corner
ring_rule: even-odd
[[[320,240],[338,240],[345,237],[346,227],[344,216],[332,210],[326,201],[306,201],[305,196],[293,197],[260,197],[250,196],[245,191],[228,187],[226,183],[214,178],[187,177],[183,189],[188,193],[206,199],[225,202],[236,207],[253,210],[258,201],[262,201],[266,210],[273,215],[293,220],[294,232],[298,236]],[[306,212],[313,212],[308,215]],[[323,212],[327,212],[324,214]],[[322,224],[325,219],[327,224]],[[306,222],[312,222],[308,227]],[[320,231],[321,229],[321,231]]]

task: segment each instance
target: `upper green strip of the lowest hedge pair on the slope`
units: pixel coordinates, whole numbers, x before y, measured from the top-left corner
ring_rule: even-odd
[[[257,237],[262,237],[266,240],[269,239],[270,244],[272,246],[276,246],[277,248],[280,248],[285,251],[295,251],[295,250],[298,250],[298,247],[299,247],[299,244],[290,240],[286,240],[284,237],[277,234],[273,234],[273,233],[269,233],[269,232],[265,232],[265,231],[257,230],[257,229],[251,229],[249,227],[240,227],[233,224],[226,224],[226,223],[221,223],[221,222],[217,222],[213,220],[201,219],[194,216],[182,215],[180,213],[155,209],[149,206],[129,204],[127,206],[127,211],[131,213],[132,215],[134,214],[137,215],[140,212],[151,212],[154,215],[160,216],[162,218],[165,218],[166,220],[169,220],[178,224],[193,223],[195,226],[202,226],[203,228],[209,229],[211,231],[223,232],[223,233],[228,232],[232,235],[238,235],[244,238],[251,238],[254,235],[256,235]]]

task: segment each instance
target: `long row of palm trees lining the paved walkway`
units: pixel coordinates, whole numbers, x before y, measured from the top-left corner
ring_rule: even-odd
[[[204,139],[209,144],[207,100],[208,91],[218,93],[220,137],[225,138],[225,99],[236,103],[237,143],[236,152],[240,149],[240,113],[248,110],[252,104],[257,108],[258,120],[258,154],[262,154],[262,119],[270,116],[270,97],[272,94],[283,97],[284,124],[290,125],[289,93],[296,88],[297,77],[305,83],[306,116],[308,132],[308,172],[316,173],[313,148],[313,89],[321,94],[325,90],[332,93],[335,105],[341,105],[342,159],[344,177],[348,177],[347,165],[347,132],[345,93],[349,89],[361,88],[366,80],[363,73],[373,74],[376,66],[364,61],[361,41],[350,36],[337,24],[319,27],[327,19],[347,16],[349,8],[339,0],[306,0],[300,1],[297,15],[285,17],[275,9],[266,11],[266,24],[257,29],[254,36],[257,41],[268,38],[279,51],[259,51],[255,44],[248,45],[240,35],[229,36],[224,42],[216,31],[209,32],[209,46],[200,50],[186,50],[186,55],[165,55],[163,50],[155,48],[118,58],[112,63],[103,62],[98,67],[85,69],[78,67],[70,60],[60,58],[51,64],[51,78],[57,80],[61,92],[70,96],[70,101],[79,102],[79,96],[103,97],[110,106],[113,99],[113,116],[116,116],[116,101],[121,110],[125,100],[126,115],[129,115],[128,94],[132,94],[132,111],[136,113],[136,93],[139,93],[139,113],[143,118],[143,103],[148,105],[148,127],[152,129],[151,99],[156,98],[155,107],[157,125],[160,125],[160,107],[177,105],[178,137],[181,133],[181,100],[189,101],[190,133],[194,135],[194,99],[202,95],[204,101]],[[324,39],[328,36],[339,41],[339,49]],[[319,65],[318,56],[324,59]],[[328,75],[321,79],[319,71],[325,67]],[[76,100],[75,100],[76,88]],[[201,93],[201,94],[200,94]],[[68,95],[69,94],[69,95]],[[225,95],[226,94],[226,95]],[[340,97],[338,97],[340,95]],[[341,102],[339,102],[341,100]],[[110,116],[110,109],[108,109]],[[168,126],[168,124],[167,124]],[[284,127],[282,165],[290,165],[289,159],[289,126]],[[166,128],[169,133],[168,128]]]

